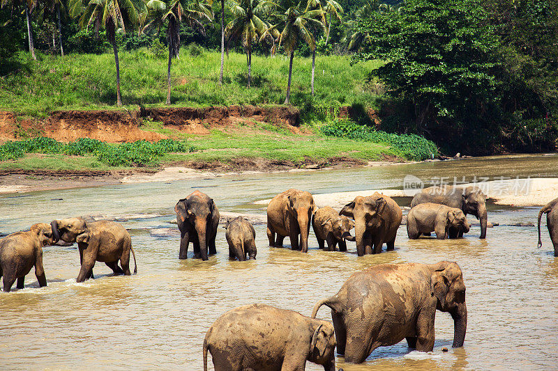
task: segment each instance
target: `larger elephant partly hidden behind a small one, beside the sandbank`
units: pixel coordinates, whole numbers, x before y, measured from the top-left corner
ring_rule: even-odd
[[[486,238],[486,226],[488,223],[486,196],[478,187],[428,187],[414,195],[411,208],[420,203],[441,203],[442,205],[461,209],[465,215],[472,214],[476,216],[476,219],[481,222],[480,238]],[[450,238],[463,237],[463,232],[463,230],[450,228],[448,234]]]

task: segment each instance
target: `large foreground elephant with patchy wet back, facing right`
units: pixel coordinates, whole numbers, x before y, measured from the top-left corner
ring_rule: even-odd
[[[453,317],[453,347],[465,342],[465,283],[455,262],[376,265],[316,303],[312,318],[323,305],[331,308],[337,352],[349,363],[362,363],[377,347],[404,338],[410,348],[432,352],[436,310]]]

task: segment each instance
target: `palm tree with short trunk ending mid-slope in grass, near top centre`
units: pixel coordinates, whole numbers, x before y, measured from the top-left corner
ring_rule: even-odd
[[[248,63],[248,88],[252,80],[252,43],[257,42],[258,36],[264,35],[269,27],[260,18],[266,14],[266,7],[269,5],[269,1],[262,0],[231,0],[230,8],[234,19],[225,28],[225,36],[228,39],[227,52],[232,41],[241,40]]]

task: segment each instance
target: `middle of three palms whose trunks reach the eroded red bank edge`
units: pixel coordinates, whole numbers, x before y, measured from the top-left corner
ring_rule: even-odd
[[[167,104],[170,104],[170,68],[172,58],[178,58],[180,52],[180,22],[186,22],[190,26],[196,26],[204,31],[200,22],[202,19],[213,19],[211,4],[199,3],[197,0],[149,0],[147,7],[154,10],[166,10],[162,20],[168,21],[167,41],[169,42],[169,63],[167,65]]]

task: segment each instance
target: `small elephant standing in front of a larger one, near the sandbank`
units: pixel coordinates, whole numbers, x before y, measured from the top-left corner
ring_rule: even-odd
[[[437,203],[421,203],[409,211],[407,216],[407,235],[417,239],[421,233],[430,235],[436,232],[437,239],[445,239],[449,228],[459,228],[469,232],[467,217],[460,209]]]

